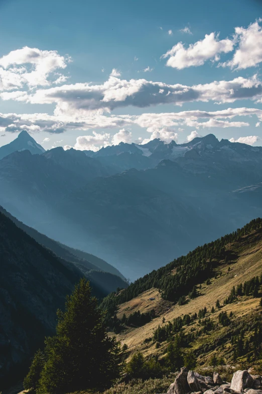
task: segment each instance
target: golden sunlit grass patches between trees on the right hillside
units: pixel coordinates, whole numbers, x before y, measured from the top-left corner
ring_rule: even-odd
[[[184,305],[175,305],[169,301],[164,301],[161,297],[159,289],[152,288],[147,290],[137,297],[124,302],[119,305],[117,316],[122,317],[125,313],[126,317],[134,311],[140,310],[140,312],[148,312],[150,309],[155,308],[159,316],[152,320],[150,323],[139,328],[129,328],[128,330],[117,335],[117,338],[121,340],[122,344],[127,344],[131,354],[136,350],[141,350],[145,356],[158,353],[160,356],[164,351],[165,343],[156,349],[154,342],[144,343],[147,338],[153,336],[154,330],[160,325],[164,326],[168,321],[173,321],[174,318],[179,316],[183,317],[185,314],[198,313],[199,309],[204,307],[207,308],[207,317],[210,317],[214,322],[218,319],[218,314],[222,311],[233,312],[233,321],[236,322],[242,319],[245,315],[250,315],[250,318],[255,313],[260,312],[259,298],[252,298],[251,296],[242,296],[230,304],[223,305],[223,300],[229,295],[230,290],[233,286],[237,286],[240,283],[254,277],[260,276],[262,273],[262,230],[258,229],[245,235],[238,242],[233,242],[226,246],[226,251],[230,252],[230,255],[234,257],[229,262],[221,260],[217,267],[214,269],[214,277],[211,278],[211,283],[206,284],[206,281],[197,285],[200,295],[194,299],[187,297],[187,303]],[[230,267],[230,270],[228,271]],[[220,274],[221,272],[221,274]],[[217,273],[217,275],[215,275]],[[170,275],[173,275],[171,272]],[[215,278],[216,276],[216,278]],[[201,286],[200,286],[201,284]],[[201,288],[200,288],[201,287]],[[150,300],[155,298],[155,300]],[[210,313],[212,306],[215,307],[217,299],[220,301],[221,309],[215,310],[214,313]],[[163,323],[165,318],[165,323]],[[249,317],[247,316],[247,319]],[[197,329],[198,319],[195,323],[189,327],[185,327],[185,332],[192,329]],[[226,327],[215,335],[222,335],[223,331],[227,330]],[[209,339],[208,339],[209,340]],[[205,338],[200,338],[193,347],[201,345],[201,341],[205,341]],[[208,357],[208,354],[207,354]]]

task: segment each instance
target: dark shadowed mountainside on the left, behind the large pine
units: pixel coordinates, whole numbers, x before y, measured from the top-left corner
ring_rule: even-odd
[[[36,235],[33,229],[29,232]],[[37,235],[49,247],[56,244]],[[23,376],[30,356],[43,345],[44,337],[54,333],[56,310],[64,307],[65,296],[83,275],[98,298],[127,284],[119,276],[98,271],[97,266],[59,244],[54,249],[66,260],[58,257],[19,228],[3,209],[0,243],[0,378],[14,382],[14,376]]]

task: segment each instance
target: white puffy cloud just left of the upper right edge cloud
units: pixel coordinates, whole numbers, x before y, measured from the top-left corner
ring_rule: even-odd
[[[190,44],[188,48],[179,42],[162,57],[168,58],[167,66],[183,69],[203,65],[206,60],[218,61],[219,54],[232,51],[233,46],[234,40],[226,38],[219,41],[219,34],[210,33],[206,34],[203,40]]]

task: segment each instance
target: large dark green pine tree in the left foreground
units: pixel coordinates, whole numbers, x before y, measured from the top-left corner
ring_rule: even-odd
[[[58,311],[56,335],[45,344],[47,361],[39,394],[104,388],[119,376],[120,344],[107,337],[103,315],[86,279],[67,297],[65,312]]]

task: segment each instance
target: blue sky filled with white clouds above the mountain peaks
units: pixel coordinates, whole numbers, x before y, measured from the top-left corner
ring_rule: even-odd
[[[0,146],[262,145],[262,0],[0,0]]]

